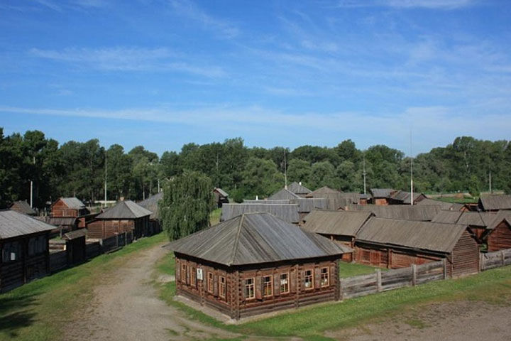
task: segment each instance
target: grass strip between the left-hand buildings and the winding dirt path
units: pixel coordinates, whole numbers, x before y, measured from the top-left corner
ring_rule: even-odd
[[[101,276],[136,256],[136,251],[165,240],[163,233],[144,238],[112,254],[0,294],[0,340],[61,340],[62,328],[70,328],[77,308],[89,303]]]

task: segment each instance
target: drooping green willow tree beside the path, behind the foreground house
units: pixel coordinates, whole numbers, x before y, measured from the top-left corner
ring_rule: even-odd
[[[160,214],[170,240],[186,237],[209,227],[214,208],[211,179],[198,172],[185,172],[163,188]]]

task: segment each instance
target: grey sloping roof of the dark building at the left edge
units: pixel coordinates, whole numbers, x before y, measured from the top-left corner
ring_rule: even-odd
[[[0,239],[13,238],[37,232],[51,231],[53,225],[46,224],[29,215],[13,210],[0,210]]]

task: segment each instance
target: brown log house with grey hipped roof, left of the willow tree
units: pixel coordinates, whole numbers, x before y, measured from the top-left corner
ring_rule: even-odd
[[[119,201],[87,224],[89,238],[104,239],[125,232],[133,233],[133,239],[146,236],[151,213],[131,200]]]

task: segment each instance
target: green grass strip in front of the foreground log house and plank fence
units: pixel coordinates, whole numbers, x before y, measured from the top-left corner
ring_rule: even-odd
[[[173,262],[166,257],[163,262]],[[356,265],[356,266],[353,266]],[[341,269],[351,274],[371,274],[374,269],[358,264],[341,264]],[[367,271],[367,272],[366,272]],[[511,266],[485,271],[449,281],[427,283],[414,288],[353,298],[341,303],[326,303],[300,310],[281,313],[273,318],[264,318],[241,325],[224,325],[214,318],[173,301],[175,283],[160,284],[160,298],[184,311],[189,318],[200,320],[219,328],[243,335],[297,336],[305,340],[329,340],[324,337],[327,330],[352,328],[392,318],[400,313],[419,308],[429,303],[451,301],[485,301],[491,304],[509,305],[511,299]]]

